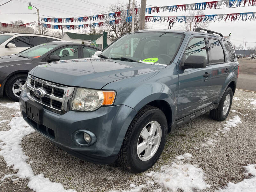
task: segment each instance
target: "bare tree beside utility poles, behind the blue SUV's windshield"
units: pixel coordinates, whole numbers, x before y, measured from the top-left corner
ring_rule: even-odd
[[[121,3],[120,1],[118,1],[115,4],[110,4],[109,8],[112,10],[112,12],[119,12],[119,11],[122,12],[128,9],[128,5],[125,6],[124,3]],[[120,15],[120,18],[122,19],[118,24],[116,24],[115,22],[113,23],[107,22],[109,21],[109,19],[105,19],[104,21],[106,21],[107,26],[102,27],[99,32],[102,33],[103,31],[106,31],[108,34],[108,37],[111,40],[115,40],[116,38],[126,33],[126,17],[127,17],[127,12],[122,12]],[[114,17],[112,20],[118,20],[118,19],[119,17]],[[132,22],[128,22],[127,24],[128,24],[128,33],[130,33],[132,30]],[[145,28],[146,27],[147,26],[145,26]],[[134,16],[134,31],[136,30],[139,30],[139,12]]]

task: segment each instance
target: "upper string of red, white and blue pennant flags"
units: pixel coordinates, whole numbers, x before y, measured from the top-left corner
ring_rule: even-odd
[[[146,14],[153,14],[159,12],[177,12],[187,11],[187,10],[205,10],[205,9],[217,9],[217,8],[230,8],[230,7],[241,7],[241,6],[254,6],[256,5],[256,0],[220,0],[220,1],[209,1],[202,3],[193,4],[181,4],[181,5],[171,5],[162,7],[147,7]],[[135,14],[138,13],[138,8],[134,9]],[[112,12],[106,14],[84,16],[84,17],[71,17],[71,18],[41,18],[43,22],[51,23],[73,23],[73,22],[86,22],[86,21],[96,21],[103,19],[116,19],[121,17],[121,13],[132,13],[132,9],[124,10],[119,12]]]

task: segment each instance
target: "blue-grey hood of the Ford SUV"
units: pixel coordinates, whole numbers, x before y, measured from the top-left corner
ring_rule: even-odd
[[[113,81],[165,67],[164,65],[87,58],[39,65],[29,73],[57,84],[101,89]]]

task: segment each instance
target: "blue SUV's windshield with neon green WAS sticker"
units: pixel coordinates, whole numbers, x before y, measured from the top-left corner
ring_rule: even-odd
[[[182,34],[167,32],[130,33],[111,44],[101,55],[111,59],[167,65],[174,58],[182,38]]]

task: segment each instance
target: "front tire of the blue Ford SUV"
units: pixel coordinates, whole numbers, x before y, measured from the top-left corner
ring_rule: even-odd
[[[145,143],[144,140],[141,141],[143,139],[141,137],[141,133],[143,130],[145,131],[144,128],[146,125],[147,125],[147,131],[150,130],[151,126],[152,126],[152,129],[155,126],[157,127],[156,133],[154,133],[154,136],[151,137],[153,135],[152,134],[149,139],[150,141],[153,142],[153,144],[152,143],[150,144],[149,140],[146,141],[148,143],[148,148],[150,148],[150,145],[151,145],[151,149],[152,149],[152,152],[148,153],[151,156],[148,159],[144,157],[146,156],[145,154],[146,149],[144,150],[144,155],[140,155],[140,157],[138,155],[139,152],[137,152],[137,145],[142,144],[142,142]],[[150,131],[148,132],[149,135],[150,135]],[[159,136],[160,132],[161,132],[161,136]],[[164,113],[159,108],[152,107],[149,105],[145,106],[138,112],[138,114],[132,120],[132,123],[130,124],[125,134],[122,147],[117,157],[117,161],[122,167],[124,167],[125,169],[128,169],[130,172],[140,173],[148,170],[150,167],[152,167],[156,163],[156,161],[162,154],[165,141],[166,141],[166,136],[167,136],[167,120]],[[154,139],[151,140],[151,138],[154,138]],[[160,141],[159,141],[159,138],[161,138]],[[156,145],[156,143],[158,142],[159,144]],[[143,151],[140,154],[143,154]]]

